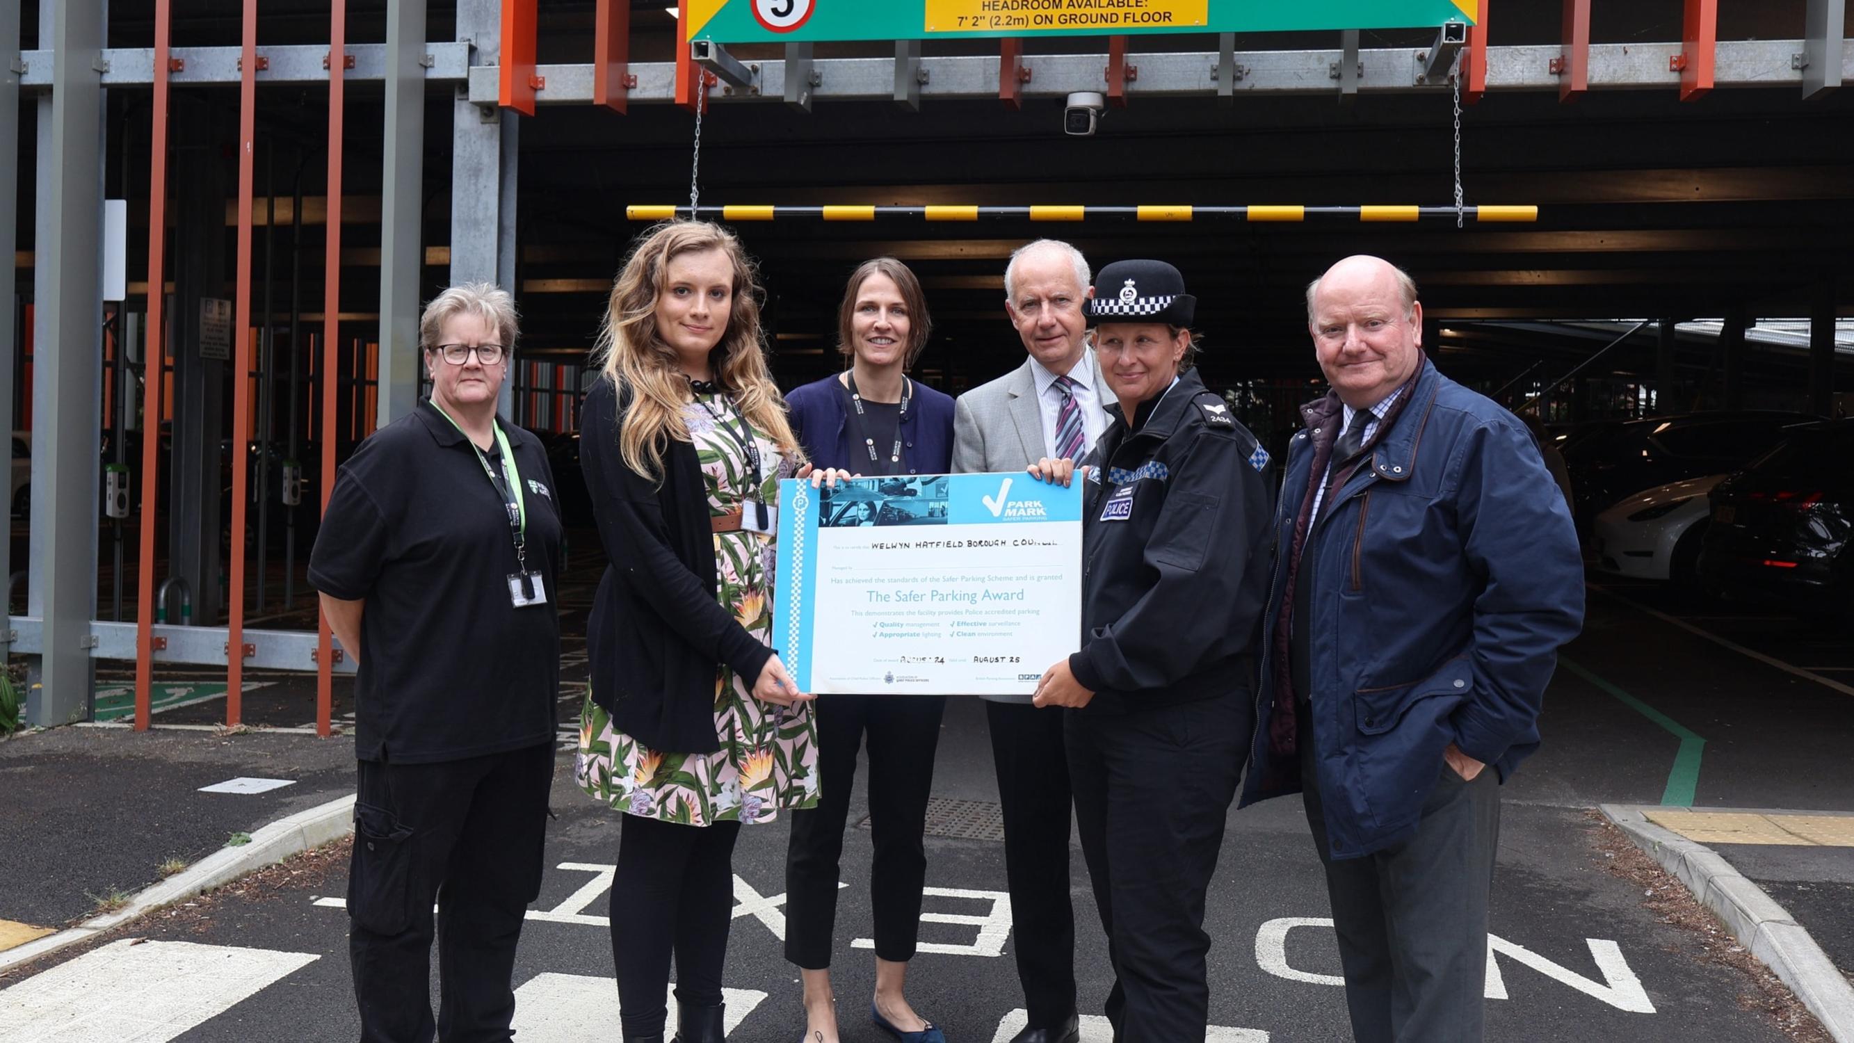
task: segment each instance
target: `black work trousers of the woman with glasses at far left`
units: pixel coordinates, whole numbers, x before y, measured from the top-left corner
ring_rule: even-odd
[[[434,1032],[445,1043],[510,1039],[515,941],[541,891],[552,743],[358,769],[349,961],[362,1041],[428,1043]]]

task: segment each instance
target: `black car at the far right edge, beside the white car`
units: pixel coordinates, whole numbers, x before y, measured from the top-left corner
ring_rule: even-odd
[[[1854,609],[1854,421],[1793,428],[1711,493],[1700,580],[1798,611]]]

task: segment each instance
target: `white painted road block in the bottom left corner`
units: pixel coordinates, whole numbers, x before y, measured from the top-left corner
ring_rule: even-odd
[[[0,991],[11,1043],[165,1043],[319,960],[191,941],[113,941]]]

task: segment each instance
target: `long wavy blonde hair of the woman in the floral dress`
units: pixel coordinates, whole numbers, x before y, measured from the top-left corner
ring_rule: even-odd
[[[617,448],[625,465],[651,480],[662,480],[669,439],[690,441],[682,424],[682,406],[690,402],[690,383],[677,367],[677,352],[656,332],[656,300],[664,293],[669,261],[682,254],[721,250],[734,267],[732,311],[721,343],[710,354],[714,378],[734,395],[734,406],[779,452],[803,461],[797,437],[786,421],[786,400],[766,365],[766,339],[760,330],[760,282],[740,239],[719,224],[669,220],[645,232],[612,283],[604,328],[593,348],[593,365],[619,389],[630,391],[617,430]]]

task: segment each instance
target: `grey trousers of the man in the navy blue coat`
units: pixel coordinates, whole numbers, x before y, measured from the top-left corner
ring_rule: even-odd
[[[1465,782],[1446,761],[1416,832],[1335,860],[1326,837],[1313,713],[1300,708],[1302,800],[1326,865],[1352,1037],[1359,1043],[1474,1043],[1483,1036],[1487,900],[1500,847],[1500,773]]]

